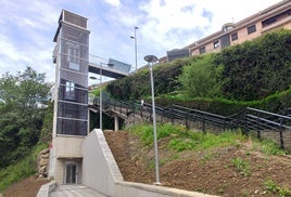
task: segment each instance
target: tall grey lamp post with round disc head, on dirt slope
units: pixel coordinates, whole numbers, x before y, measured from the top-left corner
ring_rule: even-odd
[[[153,108],[153,139],[154,139],[154,155],[155,155],[155,185],[160,185],[160,172],[159,172],[159,154],[157,154],[157,140],[156,140],[156,121],[155,121],[155,103],[154,103],[154,84],[153,84],[153,63],[157,61],[154,55],[144,56],[144,61],[148,62],[151,75],[151,92],[152,92],[152,108]]]

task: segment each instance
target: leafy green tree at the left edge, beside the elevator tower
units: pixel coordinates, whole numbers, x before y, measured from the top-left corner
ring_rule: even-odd
[[[9,73],[0,78],[0,167],[8,166],[29,152],[39,139],[43,109],[50,87],[45,74],[31,67],[16,76]]]

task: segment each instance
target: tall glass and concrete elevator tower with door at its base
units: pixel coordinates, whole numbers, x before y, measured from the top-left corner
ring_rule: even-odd
[[[55,83],[49,175],[60,184],[80,183],[81,143],[88,133],[87,18],[63,10],[53,41]]]

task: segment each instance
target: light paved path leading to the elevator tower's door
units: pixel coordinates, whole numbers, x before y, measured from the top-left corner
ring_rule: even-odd
[[[52,191],[49,197],[104,197],[105,195],[88,187],[85,185],[58,185],[58,187]]]

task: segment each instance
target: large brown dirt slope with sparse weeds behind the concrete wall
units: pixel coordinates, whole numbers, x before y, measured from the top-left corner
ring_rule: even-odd
[[[125,181],[155,182],[152,146],[129,132],[104,132]],[[291,157],[265,156],[251,141],[211,152],[175,153],[159,142],[160,180],[164,186],[222,196],[276,196],[266,188],[273,181],[291,189]],[[237,165],[235,165],[237,163]]]

